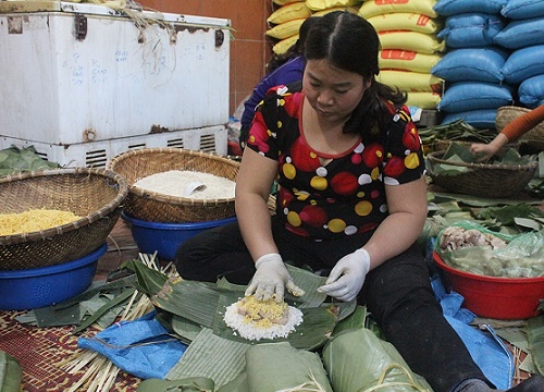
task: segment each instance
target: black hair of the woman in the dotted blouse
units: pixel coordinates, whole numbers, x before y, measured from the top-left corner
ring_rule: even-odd
[[[304,46],[306,60],[326,59],[332,65],[355,72],[371,82],[344,125],[344,132],[374,139],[387,121],[386,101],[395,106],[406,102],[405,93],[375,79],[380,73],[380,38],[374,27],[357,14],[330,12],[312,24]]]

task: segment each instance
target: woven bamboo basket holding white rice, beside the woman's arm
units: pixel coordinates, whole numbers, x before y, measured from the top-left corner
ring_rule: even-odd
[[[209,152],[181,148],[143,148],[114,157],[108,168],[126,179],[129,189],[124,211],[151,222],[206,222],[235,216],[234,197],[195,199],[153,193],[134,186],[145,176],[171,170],[189,170],[236,180],[239,162]]]

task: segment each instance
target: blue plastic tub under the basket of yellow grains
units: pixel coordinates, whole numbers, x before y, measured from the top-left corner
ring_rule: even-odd
[[[0,309],[25,310],[50,306],[83,293],[92,283],[104,243],[76,260],[50,267],[0,271]]]

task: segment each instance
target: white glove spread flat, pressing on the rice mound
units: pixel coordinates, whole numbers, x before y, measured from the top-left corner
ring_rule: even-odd
[[[255,264],[257,271],[251,279],[246,295],[255,294],[259,301],[268,301],[275,294],[275,301],[282,302],[285,287],[295,296],[304,295],[304,290],[293,283],[293,279],[279,254],[267,254]]]

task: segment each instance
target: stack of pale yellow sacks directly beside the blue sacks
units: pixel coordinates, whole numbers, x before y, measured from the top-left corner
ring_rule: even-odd
[[[359,16],[380,35],[379,79],[408,93],[408,105],[436,109],[443,81],[431,74],[445,45],[437,38],[442,28],[433,7],[436,0],[364,0]]]

